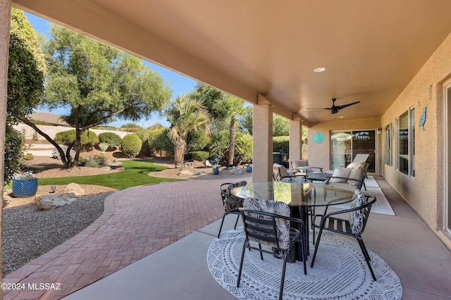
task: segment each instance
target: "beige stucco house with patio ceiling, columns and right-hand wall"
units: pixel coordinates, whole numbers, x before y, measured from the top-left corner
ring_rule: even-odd
[[[252,103],[254,181],[272,177],[273,113],[290,120],[291,159],[302,156],[303,126],[311,165],[372,151],[371,172],[451,245],[451,1],[11,4]],[[359,104],[331,113],[335,98]]]

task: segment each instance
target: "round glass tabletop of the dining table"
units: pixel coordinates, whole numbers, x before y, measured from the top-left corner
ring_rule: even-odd
[[[240,198],[282,201],[289,206],[327,206],[354,199],[354,192],[321,183],[248,182],[230,190]]]

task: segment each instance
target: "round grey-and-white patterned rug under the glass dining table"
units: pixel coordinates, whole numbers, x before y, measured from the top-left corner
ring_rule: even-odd
[[[207,263],[216,282],[237,299],[277,299],[283,260],[259,251],[245,251],[240,287],[242,228],[223,232],[209,246]],[[314,268],[310,268],[313,246],[307,261],[307,275],[302,262],[287,263],[283,299],[401,299],[402,285],[390,265],[369,250],[374,282],[357,242],[325,232],[321,236]]]

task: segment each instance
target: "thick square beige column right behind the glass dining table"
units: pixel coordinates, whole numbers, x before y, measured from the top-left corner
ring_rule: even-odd
[[[259,95],[252,108],[252,182],[273,181],[273,107]]]

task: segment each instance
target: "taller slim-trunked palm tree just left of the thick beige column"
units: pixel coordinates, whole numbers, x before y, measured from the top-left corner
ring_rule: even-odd
[[[206,109],[214,119],[218,121],[228,120],[230,140],[226,153],[226,163],[227,165],[234,165],[235,137],[237,131],[236,120],[237,116],[244,112],[244,102],[241,99],[237,99],[202,84],[197,85],[191,96],[204,101]]]

